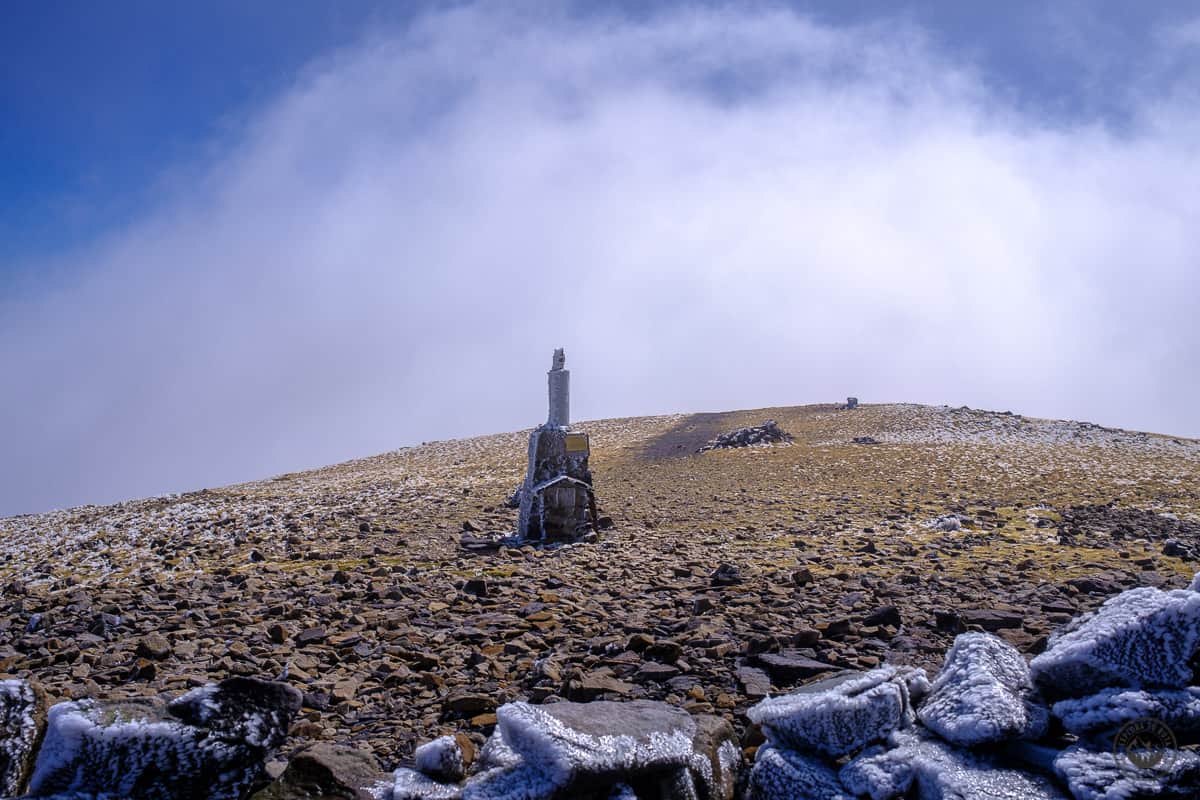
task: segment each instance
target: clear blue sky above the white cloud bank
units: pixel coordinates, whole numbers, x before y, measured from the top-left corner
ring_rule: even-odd
[[[587,2],[572,13],[644,18],[680,5]],[[1147,68],[1156,32],[1195,16],[1189,2],[1118,0],[791,5],[833,25],[912,22],[1015,102],[1110,125],[1124,122],[1127,107],[1103,85]],[[361,0],[10,6],[0,26],[0,272],[35,269],[136,217],[170,175],[211,158],[307,65],[401,28],[420,8]]]

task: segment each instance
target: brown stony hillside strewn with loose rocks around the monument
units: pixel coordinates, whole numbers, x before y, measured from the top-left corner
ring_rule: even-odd
[[[794,441],[695,452],[767,419]],[[932,673],[964,630],[1037,652],[1198,569],[1196,440],[917,405],[577,427],[616,523],[593,545],[460,548],[514,529],[527,432],[0,519],[0,673],[52,702],[283,675],[289,747],[390,768],[439,734],[481,742],[515,699],[666,699],[742,733],[823,670]]]

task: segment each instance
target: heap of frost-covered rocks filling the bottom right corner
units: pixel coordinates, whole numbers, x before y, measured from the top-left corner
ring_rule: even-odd
[[[754,800],[1200,796],[1200,576],[1134,589],[1054,634],[1032,662],[959,636],[923,670],[846,673],[750,710],[766,735]],[[1066,732],[1066,733],[1063,733]]]

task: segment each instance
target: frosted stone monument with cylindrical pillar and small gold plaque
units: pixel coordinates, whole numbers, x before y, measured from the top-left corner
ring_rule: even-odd
[[[529,434],[529,468],[521,486],[517,537],[527,542],[574,541],[595,530],[596,504],[588,469],[588,434],[570,429],[571,373],[554,350],[547,374],[550,416]]]

